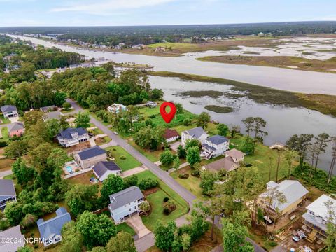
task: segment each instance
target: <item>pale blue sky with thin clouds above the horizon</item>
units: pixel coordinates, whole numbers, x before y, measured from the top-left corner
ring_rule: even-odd
[[[0,0],[0,27],[336,20],[335,0]]]

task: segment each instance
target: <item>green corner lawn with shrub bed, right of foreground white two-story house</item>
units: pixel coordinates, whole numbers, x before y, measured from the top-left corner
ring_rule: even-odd
[[[141,172],[136,175],[139,178],[139,181],[145,178],[153,178],[158,179],[151,171]],[[163,181],[158,179],[159,181],[159,189],[157,192],[152,193],[146,197],[146,200],[151,203],[152,211],[149,216],[143,216],[142,220],[144,224],[149,230],[153,230],[155,228],[155,223],[158,220],[162,221],[174,221],[176,218],[183,216],[183,214],[188,213],[188,203],[183,200],[183,198],[175,193],[172,188],[169,188]],[[166,216],[163,214],[163,198],[169,197],[169,199],[174,200],[176,202],[176,210],[171,214]]]

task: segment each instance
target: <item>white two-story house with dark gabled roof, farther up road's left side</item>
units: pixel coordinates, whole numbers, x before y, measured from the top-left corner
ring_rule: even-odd
[[[89,139],[89,134],[83,127],[67,128],[57,134],[59,144],[64,147],[74,146]]]

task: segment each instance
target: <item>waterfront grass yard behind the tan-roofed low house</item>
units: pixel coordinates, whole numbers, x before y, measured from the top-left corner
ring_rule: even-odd
[[[230,139],[231,147],[239,149],[241,146],[242,137],[237,137],[236,139]],[[278,181],[283,179],[283,177],[288,174],[288,165],[286,160],[283,158],[284,151],[282,152],[279,165],[279,175]],[[278,152],[276,150],[270,150],[268,146],[262,144],[255,145],[255,153],[253,155],[246,155],[244,162],[246,164],[251,164],[254,167],[257,167],[262,179],[265,183],[269,181],[269,163],[271,160],[271,180],[276,180],[276,166],[278,160]]]

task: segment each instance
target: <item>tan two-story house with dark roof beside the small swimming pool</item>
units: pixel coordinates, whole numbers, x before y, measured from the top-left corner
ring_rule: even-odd
[[[93,146],[76,153],[73,158],[82,169],[88,169],[98,162],[106,161],[107,155],[104,149],[99,146]]]

